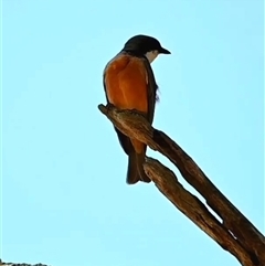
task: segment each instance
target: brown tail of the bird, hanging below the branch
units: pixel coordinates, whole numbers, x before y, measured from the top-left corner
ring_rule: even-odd
[[[135,184],[138,181],[146,183],[151,182],[144,170],[146,152],[136,153],[132,152],[128,156],[128,170],[127,170],[127,183]]]

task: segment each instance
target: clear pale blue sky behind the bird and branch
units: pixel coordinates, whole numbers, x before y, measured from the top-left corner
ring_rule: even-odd
[[[263,12],[262,0],[3,0],[1,258],[239,265],[153,184],[126,184],[127,158],[97,105],[125,41],[159,39],[172,54],[152,64],[153,126],[264,233]]]

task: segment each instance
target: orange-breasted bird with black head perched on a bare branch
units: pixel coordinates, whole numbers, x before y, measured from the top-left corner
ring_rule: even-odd
[[[105,66],[103,85],[107,105],[118,109],[132,109],[142,114],[150,125],[153,121],[158,85],[151,63],[159,54],[171,54],[160,42],[149,35],[131,36]],[[126,182],[149,183],[144,170],[147,146],[130,139],[114,126],[119,143],[128,156]]]

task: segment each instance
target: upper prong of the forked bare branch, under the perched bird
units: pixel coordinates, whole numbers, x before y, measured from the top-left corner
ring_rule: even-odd
[[[129,137],[137,138],[147,143],[151,149],[159,151],[179,169],[187,182],[205,199],[208,205],[223,220],[222,226],[226,230],[225,232],[231,236],[233,234],[235,241],[233,245],[236,243],[237,246],[241,245],[246,251],[247,255],[245,257],[251,257],[252,264],[243,265],[265,265],[264,235],[222,194],[197,163],[172,139],[165,132],[152,128],[144,116],[136,111],[118,110],[114,106],[106,108],[103,105],[99,105],[98,108],[120,131]],[[172,189],[171,184],[166,183],[162,187],[163,194],[166,194],[165,191]],[[216,235],[211,235],[211,237],[213,236],[216,237]],[[226,237],[229,237],[227,234]],[[225,238],[225,244],[221,244],[226,249],[232,243],[227,243],[227,240],[230,238]],[[223,243],[223,238],[219,238],[218,242]],[[235,251],[233,252],[233,255],[239,255],[235,254]],[[242,257],[237,258],[242,263],[245,262]]]

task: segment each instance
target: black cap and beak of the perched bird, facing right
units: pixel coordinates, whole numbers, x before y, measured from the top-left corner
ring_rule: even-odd
[[[125,43],[123,51],[132,52],[140,55],[145,55],[151,51],[158,51],[159,54],[170,54],[167,49],[161,46],[157,39],[147,35],[136,35],[130,38]]]

